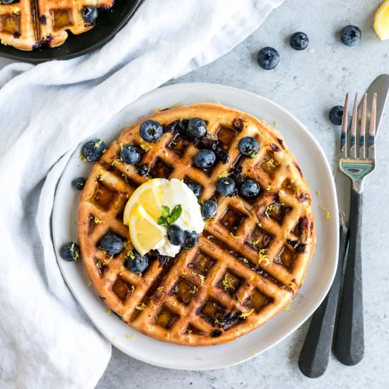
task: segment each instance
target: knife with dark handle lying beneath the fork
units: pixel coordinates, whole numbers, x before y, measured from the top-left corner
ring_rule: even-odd
[[[377,118],[376,118],[376,135],[381,124],[383,110],[389,93],[389,75],[382,74],[371,83],[366,93],[368,96],[368,107],[371,107],[371,99],[373,93],[378,95],[377,102]],[[361,108],[361,103],[359,104]],[[369,108],[370,109],[370,108]],[[368,112],[369,114],[370,112]],[[348,225],[349,225],[349,199],[351,194],[351,182],[343,174],[339,174],[337,166],[335,173],[335,185],[337,188],[337,201],[339,207],[339,258],[337,263],[337,272],[332,283],[330,291],[320,304],[319,308],[313,313],[310,327],[306,335],[306,339],[301,349],[298,366],[301,372],[310,378],[317,378],[325,373],[330,357],[330,349],[335,326],[335,318],[337,305],[339,300],[339,291],[342,281],[342,272],[344,268],[344,257],[347,251]],[[361,334],[361,342],[363,344],[363,333]],[[354,355],[354,358],[359,360],[363,357],[364,349],[349,349],[344,350],[345,354],[359,353]],[[338,356],[338,355],[337,355]],[[339,357],[339,356],[338,356]],[[342,359],[342,357],[340,358]],[[342,361],[341,361],[342,362]]]

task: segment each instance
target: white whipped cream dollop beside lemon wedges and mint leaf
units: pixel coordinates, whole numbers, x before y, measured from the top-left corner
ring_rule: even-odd
[[[196,195],[190,188],[177,178],[166,180],[161,178],[157,180],[158,185],[158,201],[161,205],[166,205],[173,209],[180,204],[182,213],[180,217],[174,222],[180,226],[183,231],[195,231],[197,234],[204,230],[204,220],[202,219],[202,212]],[[180,246],[172,245],[168,240],[168,228],[164,228],[165,235],[163,239],[156,244],[153,249],[157,250],[161,255],[168,255],[175,257],[180,251]]]

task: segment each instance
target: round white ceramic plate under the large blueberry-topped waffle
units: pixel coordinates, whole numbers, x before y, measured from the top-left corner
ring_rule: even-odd
[[[181,83],[159,88],[124,108],[109,125],[98,129],[95,135],[109,144],[122,129],[149,115],[156,108],[176,103],[217,101],[248,112],[269,124],[277,122],[277,129],[296,156],[310,185],[315,213],[317,245],[300,294],[291,303],[291,310],[281,311],[265,325],[236,339],[230,344],[212,347],[183,347],[158,342],[141,335],[124,324],[115,315],[105,313],[107,308],[98,298],[83,272],[81,261],[61,260],[58,249],[76,238],[79,192],[71,187],[71,180],[88,175],[91,164],[79,159],[79,146],[64,169],[54,200],[52,228],[54,247],[59,267],[69,288],[98,330],[122,352],[149,364],[167,368],[205,370],[223,368],[247,361],[287,337],[304,323],[327,294],[335,275],[338,252],[337,198],[330,166],[318,142],[308,129],[289,112],[266,98],[229,86],[209,83]],[[320,192],[318,197],[315,192]],[[332,214],[327,219],[325,207]],[[135,336],[134,336],[135,335]]]

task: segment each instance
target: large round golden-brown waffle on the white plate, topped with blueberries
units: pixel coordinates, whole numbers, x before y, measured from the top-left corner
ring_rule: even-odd
[[[208,170],[193,166],[198,145],[174,131],[176,120],[191,117],[207,122],[211,137],[219,140],[224,156],[228,153],[226,163]],[[125,129],[95,163],[81,192],[83,265],[105,305],[145,335],[187,346],[231,342],[296,296],[315,247],[309,187],[281,134],[251,115],[202,103],[149,118],[163,125],[161,140],[145,146],[141,122]],[[255,158],[240,156],[238,141],[245,136],[260,143]],[[143,147],[138,166],[120,161],[120,144]],[[215,182],[226,172],[236,182],[257,180],[260,195],[248,201],[216,194]],[[182,250],[166,266],[161,266],[166,258],[149,255],[150,265],[139,275],[124,266],[126,250],[110,257],[98,243],[112,231],[132,249],[122,214],[134,189],[149,178],[197,182],[203,187],[199,202],[213,198],[218,208],[194,248]]]

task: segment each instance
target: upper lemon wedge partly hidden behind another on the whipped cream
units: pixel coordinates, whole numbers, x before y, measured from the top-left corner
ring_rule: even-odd
[[[132,209],[140,204],[144,210],[153,218],[158,219],[161,216],[160,203],[161,194],[161,179],[154,178],[137,187],[124,208],[123,223],[128,226],[129,218],[132,214]]]

